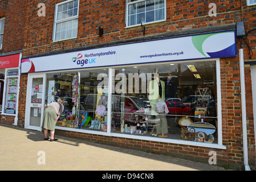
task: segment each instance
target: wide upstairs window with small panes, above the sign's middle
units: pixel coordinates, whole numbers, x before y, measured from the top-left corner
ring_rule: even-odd
[[[129,0],[127,2],[127,26],[165,20],[164,0]]]

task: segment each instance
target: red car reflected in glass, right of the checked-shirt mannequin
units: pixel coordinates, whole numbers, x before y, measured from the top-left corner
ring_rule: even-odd
[[[181,102],[166,102],[169,113],[171,115],[184,115],[190,111],[190,107],[185,106]]]

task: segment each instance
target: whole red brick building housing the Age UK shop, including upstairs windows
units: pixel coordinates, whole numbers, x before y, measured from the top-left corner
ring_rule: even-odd
[[[18,126],[42,130],[44,104],[64,97],[56,134],[205,163],[216,154],[220,166],[255,169],[253,2],[24,2],[22,23],[13,18],[22,24],[17,49],[5,48],[15,14],[0,14],[2,53],[23,48]],[[154,109],[159,95],[166,119]]]

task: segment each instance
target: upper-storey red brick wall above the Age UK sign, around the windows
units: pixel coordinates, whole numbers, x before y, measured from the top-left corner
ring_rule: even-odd
[[[26,43],[24,55],[62,51],[70,48],[96,45],[99,43],[129,40],[143,36],[141,27],[125,28],[125,1],[80,1],[78,38],[52,43],[55,3],[45,1],[46,16],[37,16],[37,4],[41,1],[28,1],[26,21]],[[209,3],[216,3],[217,16],[209,16]],[[166,3],[166,21],[146,25],[145,36],[166,32],[194,30],[198,28],[225,26],[246,20],[246,30],[255,27],[253,7],[246,7],[242,1],[242,17],[239,1],[168,1]],[[247,19],[247,16],[251,17]],[[251,20],[252,19],[252,20]],[[99,37],[98,27],[104,28]]]

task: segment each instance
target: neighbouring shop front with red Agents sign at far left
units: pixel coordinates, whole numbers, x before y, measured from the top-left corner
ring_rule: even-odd
[[[1,123],[14,121],[13,124],[17,125],[21,56],[22,53],[8,53],[0,57]]]

